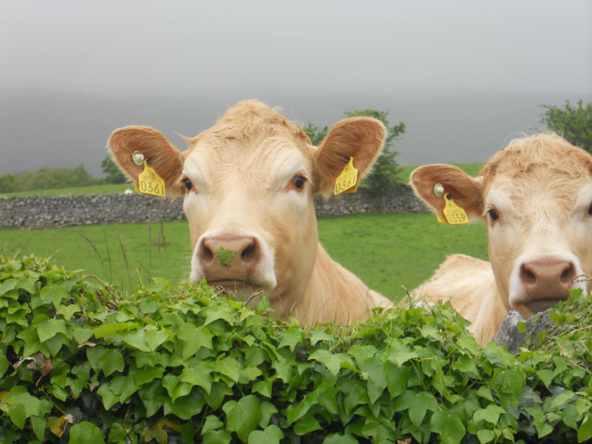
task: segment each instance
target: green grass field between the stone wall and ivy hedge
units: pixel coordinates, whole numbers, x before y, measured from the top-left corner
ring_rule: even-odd
[[[52,230],[0,230],[0,249],[8,255],[52,256],[66,269],[84,269],[123,288],[144,282],[149,275],[176,280],[187,276],[191,251],[185,221],[161,226],[119,224],[66,227]],[[94,248],[79,234],[87,236]],[[390,298],[404,295],[429,278],[452,253],[487,259],[485,224],[450,226],[432,214],[364,214],[318,220],[319,239],[337,262],[358,275],[371,288]],[[126,251],[123,258],[120,242]],[[149,239],[152,239],[149,242]],[[160,239],[160,242],[159,242]],[[160,245],[160,252],[159,252]],[[166,248],[165,248],[166,245]]]

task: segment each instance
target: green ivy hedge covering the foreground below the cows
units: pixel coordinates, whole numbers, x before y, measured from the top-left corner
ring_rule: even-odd
[[[205,284],[0,256],[0,442],[585,442],[592,302],[484,348],[448,304],[303,329]]]

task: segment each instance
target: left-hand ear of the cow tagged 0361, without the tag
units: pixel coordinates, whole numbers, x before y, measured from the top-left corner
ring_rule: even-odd
[[[179,184],[184,157],[160,131],[141,126],[119,128],[111,133],[107,146],[115,163],[134,184],[138,184],[138,175],[144,170],[143,165],[136,165],[132,160],[131,156],[137,151],[163,178],[167,194],[184,193]]]

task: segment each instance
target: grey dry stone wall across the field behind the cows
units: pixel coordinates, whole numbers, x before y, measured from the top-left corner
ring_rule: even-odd
[[[377,213],[379,200],[360,188],[355,194],[315,198],[318,217],[337,217],[352,213]],[[401,185],[385,199],[388,213],[428,211],[411,188]],[[183,220],[181,199],[170,200],[144,194],[94,194],[67,196],[0,197],[0,227],[50,228],[72,225],[140,223]]]

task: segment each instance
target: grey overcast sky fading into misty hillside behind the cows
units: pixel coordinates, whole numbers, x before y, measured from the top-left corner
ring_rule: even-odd
[[[592,100],[592,0],[0,4],[0,173],[98,175],[115,128],[184,148],[251,97],[319,125],[388,109],[401,163],[474,162]]]

